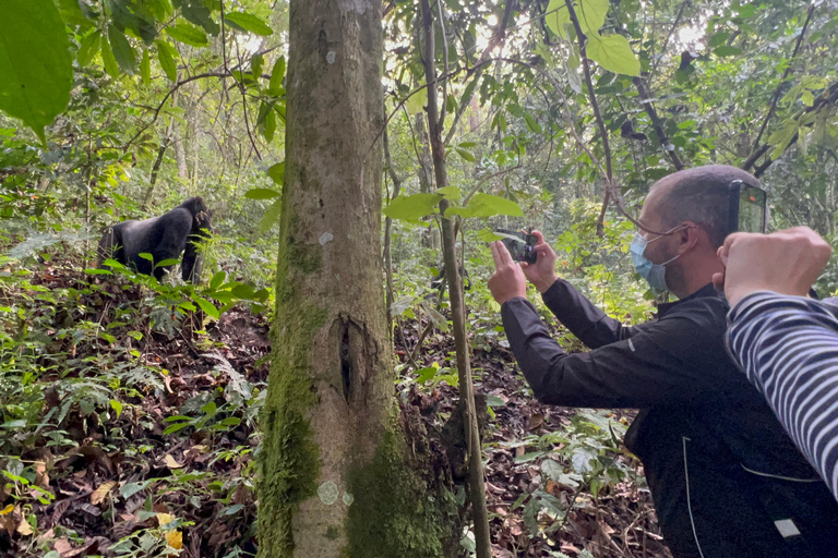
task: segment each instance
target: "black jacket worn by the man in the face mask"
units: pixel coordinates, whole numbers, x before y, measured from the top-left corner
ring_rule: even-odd
[[[591,351],[566,354],[512,299],[503,325],[527,381],[544,403],[641,409],[625,445],[677,558],[838,556],[838,504],[727,355],[728,304],[713,286],[636,327],[563,280],[543,300]]]

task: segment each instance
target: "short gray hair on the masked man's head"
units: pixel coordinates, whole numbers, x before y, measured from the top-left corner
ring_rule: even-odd
[[[728,189],[734,180],[759,187],[751,173],[727,165],[708,165],[681,170],[660,179],[653,189],[666,189],[656,211],[666,228],[693,221],[707,232],[714,248],[730,234]]]

